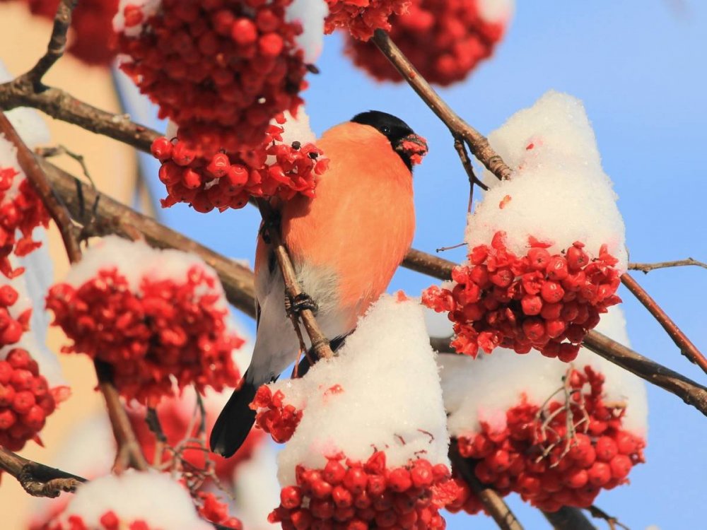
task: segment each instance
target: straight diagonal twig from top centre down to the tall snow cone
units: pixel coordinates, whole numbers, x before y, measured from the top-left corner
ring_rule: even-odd
[[[430,83],[420,75],[419,71],[417,71],[407,57],[405,57],[395,45],[395,42],[390,40],[390,37],[385,31],[375,30],[372,40],[378,49],[380,49],[380,52],[387,57],[392,65],[395,66],[395,69],[400,72],[400,75],[403,76],[405,81],[415,90],[417,95],[430,107],[432,112],[437,114],[437,117],[448,126],[450,133],[455,139],[463,139],[469,146],[472,154],[478,158],[479,162],[484,164],[493,175],[496,175],[499,179],[507,179],[510,177],[510,167],[501,160],[501,157],[496,151],[493,151],[493,148],[491,148],[489,141],[484,135],[467,124],[467,122],[464,122],[464,120],[440,98],[438,93],[430,86]],[[458,150],[457,153],[461,156]]]

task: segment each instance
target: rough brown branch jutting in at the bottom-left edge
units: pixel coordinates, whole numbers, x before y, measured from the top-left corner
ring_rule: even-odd
[[[62,492],[74,493],[86,478],[33,462],[0,447],[0,469],[15,477],[24,490],[34,497],[58,497]]]

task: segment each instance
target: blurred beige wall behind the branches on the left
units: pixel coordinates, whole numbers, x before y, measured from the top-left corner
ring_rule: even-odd
[[[30,69],[42,56],[50,33],[51,23],[30,16],[23,2],[0,2],[0,59],[14,75]],[[76,98],[96,107],[113,112],[119,111],[107,69],[89,68],[73,57],[66,56],[49,71],[45,82],[63,88]],[[115,199],[129,202],[136,179],[134,151],[104,136],[45,118],[52,133],[52,142],[61,143],[74,153],[84,155],[88,170],[100,190]],[[76,162],[65,158],[52,161],[74,175],[81,175],[81,168]],[[54,278],[61,279],[66,273],[67,261],[55,229],[50,232],[49,248],[54,260]],[[59,346],[63,343],[66,343],[66,339],[61,332],[52,329],[49,334],[49,347],[53,351],[59,351]],[[81,355],[61,355],[60,360],[64,377],[69,382],[73,394],[69,401],[64,402],[48,418],[47,426],[41,433],[45,448],[38,447],[34,442],[28,442],[27,447],[21,452],[24,457],[42,463],[49,463],[52,460],[53,452],[62,444],[62,440],[71,431],[72,425],[103,408],[100,394],[93,390],[95,374],[88,359]],[[102,449],[86,447],[86,452]],[[0,529],[24,530],[29,500],[30,497],[12,477],[4,476],[0,483]]]

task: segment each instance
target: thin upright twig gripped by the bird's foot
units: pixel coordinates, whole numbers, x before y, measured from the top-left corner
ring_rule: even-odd
[[[290,255],[288,254],[288,251],[280,237],[280,228],[274,221],[276,215],[269,203],[263,199],[258,200],[258,208],[260,210],[260,215],[263,218],[264,229],[267,230],[275,257],[277,258],[280,271],[282,272],[286,295],[291,300],[295,300],[298,296],[303,294],[303,290],[297,280],[297,275],[295,273],[295,268],[292,265]],[[312,350],[315,355],[317,355],[317,359],[330,359],[334,357],[332,348],[329,347],[329,341],[317,324],[314,312],[310,309],[299,310],[298,317],[302,320],[302,324],[305,326],[305,330],[307,331],[312,343]],[[293,323],[296,324],[296,321],[293,321]]]

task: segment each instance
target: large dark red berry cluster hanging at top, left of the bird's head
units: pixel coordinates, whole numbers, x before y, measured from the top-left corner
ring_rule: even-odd
[[[307,71],[285,21],[292,0],[163,0],[145,20],[124,8],[121,68],[180,126],[180,140],[207,158],[225,147],[257,147],[279,112],[296,114]],[[144,25],[138,35],[134,28]]]

